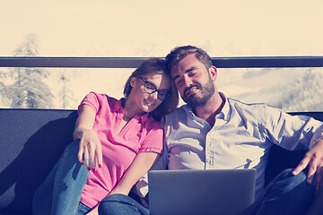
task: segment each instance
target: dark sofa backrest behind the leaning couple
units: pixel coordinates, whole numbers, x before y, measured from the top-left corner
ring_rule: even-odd
[[[323,121],[323,112],[295,114]],[[33,193],[72,141],[76,117],[76,110],[0,108],[0,215],[31,214]],[[266,181],[303,154],[273,147]]]

